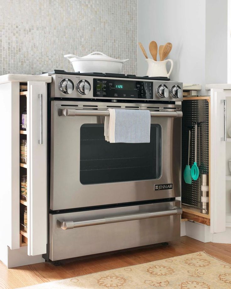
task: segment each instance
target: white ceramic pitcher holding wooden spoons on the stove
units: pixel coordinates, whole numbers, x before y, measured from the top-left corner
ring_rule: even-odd
[[[166,59],[164,61],[155,61],[153,59],[145,59],[145,61],[148,62],[148,71],[147,71],[147,75],[149,77],[154,77],[154,76],[164,76],[164,77],[168,77],[172,72],[173,69],[173,61],[171,59]],[[169,70],[169,73],[167,72],[166,69],[166,64],[167,62],[171,63],[171,67]]]

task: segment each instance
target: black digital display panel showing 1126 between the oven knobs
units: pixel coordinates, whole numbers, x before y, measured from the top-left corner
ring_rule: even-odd
[[[100,98],[153,99],[153,82],[94,78],[93,96]]]

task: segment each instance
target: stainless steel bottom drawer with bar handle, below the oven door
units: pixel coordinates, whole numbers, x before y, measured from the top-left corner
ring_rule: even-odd
[[[50,214],[54,260],[110,252],[180,237],[180,201]]]

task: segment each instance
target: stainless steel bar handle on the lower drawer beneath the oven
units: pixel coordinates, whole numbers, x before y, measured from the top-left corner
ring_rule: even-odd
[[[105,218],[93,219],[93,220],[83,220],[83,221],[59,221],[57,220],[57,226],[63,230],[67,230],[67,229],[86,227],[86,226],[95,226],[95,225],[102,225],[102,224],[142,220],[142,219],[164,217],[164,216],[171,216],[171,215],[181,215],[181,214],[182,214],[182,209],[176,207],[176,208],[173,208],[172,210],[166,210],[166,211],[137,213],[137,214],[130,214],[130,215],[105,217]]]

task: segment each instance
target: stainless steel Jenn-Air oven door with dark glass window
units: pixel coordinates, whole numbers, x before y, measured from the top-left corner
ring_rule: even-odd
[[[150,143],[110,144],[106,108],[89,106],[51,102],[50,209],[179,197],[181,112],[153,112]]]

